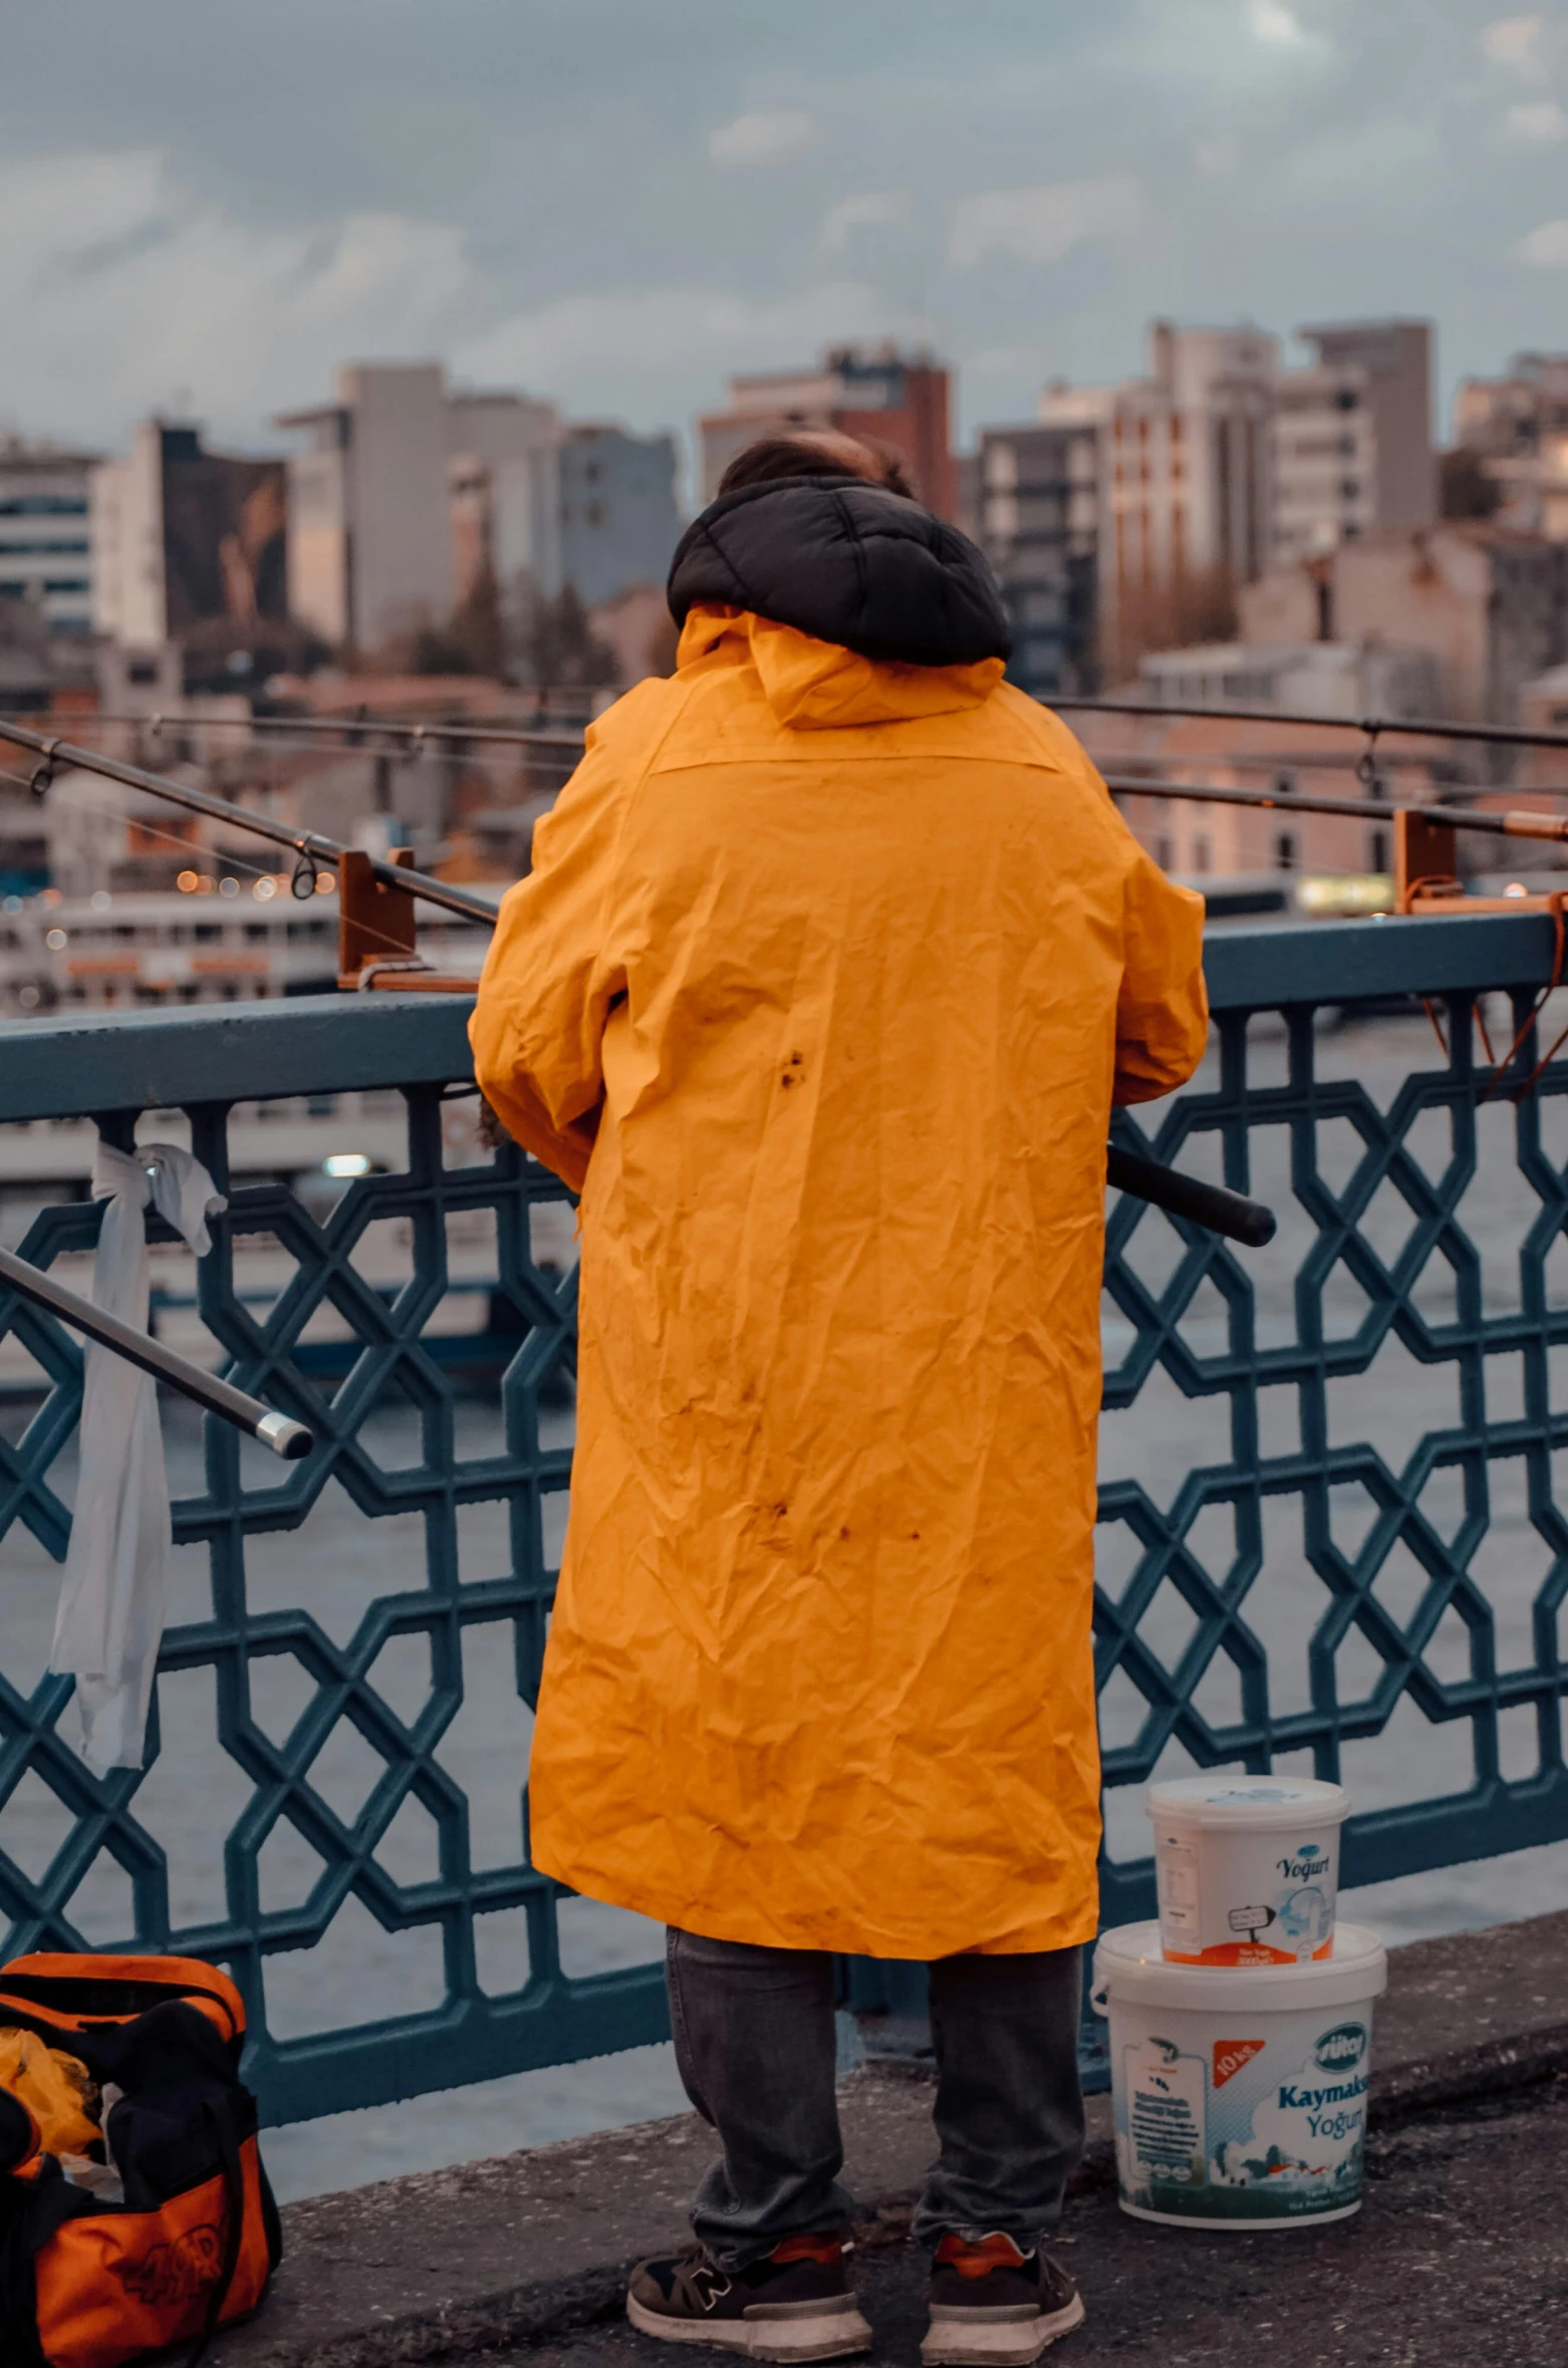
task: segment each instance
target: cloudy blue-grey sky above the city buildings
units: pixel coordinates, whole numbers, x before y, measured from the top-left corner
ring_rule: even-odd
[[[687,426],[928,339],[962,417],[1144,322],[1568,346],[1568,0],[9,0],[0,426],[251,445],[441,353]]]

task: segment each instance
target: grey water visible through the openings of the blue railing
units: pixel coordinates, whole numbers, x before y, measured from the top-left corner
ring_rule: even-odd
[[[1279,1073],[1281,1040],[1277,1023],[1260,1021],[1253,1030],[1258,1040],[1260,1082]],[[1495,1040],[1499,1018],[1495,1023]],[[1386,1106],[1405,1082],[1412,1066],[1435,1066],[1438,1054],[1426,1030],[1426,1021],[1383,1021],[1357,1025],[1341,1035],[1326,1032],[1322,1040],[1322,1073],[1326,1077],[1360,1080],[1379,1106]],[[1549,1146],[1561,1163],[1568,1141],[1556,1141],[1568,1118],[1561,1106],[1549,1106]],[[1348,1137],[1341,1122],[1341,1134]],[[1431,1175],[1442,1160],[1447,1120],[1428,1115],[1414,1130],[1416,1144]],[[1265,1253],[1244,1253],[1248,1272],[1258,1286],[1258,1340],[1260,1347],[1284,1345],[1296,1338],[1293,1281],[1300,1250],[1310,1236],[1310,1222],[1293,1205],[1286,1179],[1284,1130],[1260,1130],[1253,1137],[1255,1167],[1253,1191],[1281,1210],[1281,1234]],[[1334,1184],[1350,1172],[1355,1144],[1336,1141],[1334,1127],[1322,1130],[1322,1165]],[[1196,1172],[1210,1172],[1208,1148],[1196,1148],[1184,1160]],[[1492,1106],[1483,1113],[1483,1175],[1466,1203],[1466,1227],[1480,1250],[1485,1312],[1499,1314],[1518,1307],[1518,1255],[1521,1231],[1537,1203],[1530,1186],[1518,1175],[1511,1144],[1511,1113]],[[1409,1229],[1409,1212],[1400,1201],[1383,1193],[1371,1210],[1364,1234],[1386,1260]],[[1139,1241],[1139,1269],[1151,1283],[1175,1262],[1175,1236],[1163,1222],[1144,1224]],[[483,1243],[457,1248],[455,1267],[474,1262]],[[374,1246],[369,1269],[381,1260],[386,1279],[405,1272],[407,1246],[396,1227],[386,1229]],[[66,1279],[81,1279],[85,1262],[69,1262]],[[367,1269],[367,1272],[369,1272]],[[265,1257],[258,1262],[265,1281]],[[168,1253],[166,1279],[178,1286],[180,1265]],[[379,1276],[377,1276],[379,1279]],[[1554,1293],[1561,1305],[1561,1288]],[[448,1302],[455,1326],[471,1321],[469,1302]],[[1445,1267],[1424,1276],[1416,1305],[1442,1321],[1452,1317],[1452,1279]],[[1364,1312],[1357,1286],[1341,1276],[1326,1295],[1324,1310],[1329,1331],[1352,1328]],[[182,1319],[187,1326],[194,1317]],[[448,1312],[443,1312],[443,1324]],[[1225,1347],[1225,1310],[1210,1298],[1208,1307],[1194,1310],[1182,1336],[1199,1354],[1217,1354]],[[197,1347],[194,1338],[171,1331],[173,1345]],[[1130,1331],[1116,1310],[1106,1314],[1106,1359],[1113,1366],[1130,1343]],[[1518,1357],[1487,1359],[1487,1418],[1506,1418],[1521,1411]],[[1262,1449],[1284,1454],[1298,1437],[1296,1390],[1279,1388],[1262,1395]],[[1390,1340],[1364,1376],[1336,1381],[1329,1392],[1331,1433],[1336,1440],[1374,1442],[1390,1471],[1397,1475],[1416,1440],[1440,1426],[1457,1423],[1454,1369],[1452,1364],[1419,1364],[1407,1350]],[[483,1399],[457,1402],[460,1454],[481,1456],[497,1444],[497,1411]],[[9,1435],[17,1433],[17,1409],[5,1416]],[[171,1485],[175,1494],[199,1487],[197,1433],[182,1409],[171,1409],[166,1421]],[[417,1461],[417,1418],[405,1404],[379,1409],[367,1444],[384,1468]],[[550,1418],[547,1442],[566,1442],[571,1418]],[[1156,1506],[1168,1508],[1194,1466],[1229,1461],[1229,1402],[1225,1397],[1184,1399],[1172,1383],[1153,1376],[1137,1404],[1125,1414],[1108,1414],[1101,1433],[1104,1478],[1137,1475]],[[62,1459],[54,1473],[62,1497],[71,1497],[73,1463]],[[1445,1494],[1447,1492],[1447,1494]],[[1336,1504],[1336,1539],[1352,1549],[1369,1518],[1367,1504],[1355,1504],[1355,1489],[1343,1492],[1345,1504]],[[1452,1534],[1457,1497],[1454,1480],[1438,1471],[1421,1499],[1442,1534]],[[550,1549],[559,1549],[564,1506],[557,1506]],[[1210,1572],[1225,1568],[1229,1516],[1210,1506],[1199,1516],[1194,1542]],[[12,1530],[5,1542],[5,1667],[14,1684],[31,1686],[47,1658],[47,1641],[54,1620],[59,1568],[24,1532]],[[460,1534],[462,1577],[495,1577],[507,1568],[505,1520],[500,1506],[474,1506],[462,1516]],[[1523,1468],[1518,1461],[1492,1463],[1492,1527],[1476,1556],[1476,1572],[1485,1582],[1497,1620],[1497,1655],[1502,1667],[1528,1662],[1530,1603],[1547,1572],[1547,1546],[1530,1525],[1523,1504]],[[246,1568],[251,1603],[263,1608],[308,1606],[327,1634],[343,1641],[358,1627],[365,1608],[379,1594],[424,1584],[424,1527],[417,1516],[367,1518],[355,1508],[339,1485],[329,1485],[308,1523],[298,1532],[253,1537],[246,1544]],[[1125,1584],[1130,1556],[1125,1537],[1101,1530],[1099,1572],[1101,1584],[1113,1594]],[[1381,1582],[1383,1587],[1383,1582]],[[1419,1579],[1402,1563],[1390,1558],[1388,1601],[1409,1617],[1412,1589]],[[1400,1594],[1405,1589],[1405,1594]],[[1286,1707],[1307,1703],[1307,1641],[1324,1610],[1324,1587],[1310,1570],[1300,1542],[1300,1499],[1274,1499],[1267,1516],[1267,1561],[1248,1598],[1248,1622],[1270,1653],[1274,1700]],[[211,1584],[206,1549],[182,1549],[175,1556],[175,1620],[199,1620],[211,1615]],[[1165,1589],[1142,1622],[1142,1634],[1170,1658],[1191,1632],[1194,1615],[1175,1594]],[[521,1783],[528,1757],[528,1712],[516,1700],[509,1672],[505,1624],[490,1634],[488,1627],[467,1632],[467,1700],[443,1743],[441,1757],[464,1785],[471,1802],[474,1857],[476,1864],[495,1866],[516,1859],[521,1847]],[[1362,1650],[1357,1648],[1350,1648]],[[1438,1629],[1428,1648],[1428,1667],[1442,1681],[1457,1679],[1469,1667],[1466,1636],[1454,1620]],[[1376,1669],[1364,1648],[1362,1665],[1350,1669],[1345,1691],[1355,1691],[1352,1679],[1364,1691]],[[256,1717],[263,1731],[282,1740],[313,1688],[310,1674],[291,1658],[256,1667]],[[377,1665],[377,1688],[407,1719],[417,1712],[429,1691],[429,1655],[419,1639],[388,1643]],[[249,1781],[239,1767],[218,1750],[213,1738],[213,1677],[211,1672],[187,1672],[161,1684],[163,1705],[163,1755],[152,1769],[140,1809],[149,1828],[168,1845],[171,1857],[171,1906],[178,1923],[216,1918],[225,1909],[223,1894],[223,1835],[249,1797]],[[1225,1724],[1236,1714],[1236,1686],[1229,1665],[1217,1662],[1199,1688],[1199,1707]],[[1108,1745],[1123,1745],[1137,1733],[1144,1705],[1125,1681],[1113,1681],[1104,1700],[1104,1736]],[[1504,1722],[1506,1724],[1506,1722]],[[1518,1776],[1530,1759],[1518,1755],[1532,1750],[1525,1736],[1509,1736],[1506,1750],[1516,1762],[1504,1774]],[[313,1783],[339,1816],[353,1819],[374,1781],[381,1762],[341,1722],[313,1767]],[[1191,1767],[1187,1755],[1170,1745],[1161,1757],[1158,1774],[1182,1774]],[[1469,1726],[1464,1722],[1428,1724],[1421,1712],[1405,1700],[1395,1710],[1388,1729],[1376,1743],[1352,1743],[1345,1755],[1345,1781],[1357,1804],[1386,1804],[1416,1800],[1433,1793],[1459,1790],[1471,1781]],[[64,1840],[66,1816],[47,1788],[24,1781],[5,1809],[5,1849],[31,1873],[43,1873],[54,1849]],[[1142,1790],[1125,1788],[1108,1797],[1108,1842],[1116,1857],[1142,1857],[1149,1847],[1149,1828],[1142,1814]],[[396,1821],[381,1849],[388,1871],[400,1880],[417,1880],[433,1871],[433,1826],[422,1809],[410,1804]],[[320,1861],[291,1830],[279,1828],[263,1849],[261,1880],[263,1906],[279,1909],[301,1902]],[[1376,1925],[1388,1939],[1416,1939],[1431,1932],[1452,1932],[1535,1916],[1568,1906],[1568,1845],[1528,1849],[1506,1859],[1490,1859],[1433,1875],[1405,1878],[1376,1885],[1367,1892],[1345,1894],[1345,1913]],[[130,1928],[130,1897],[126,1875],[102,1859],[76,1894],[73,1913],[81,1930],[95,1944],[121,1939]],[[514,1989],[523,1977],[521,1939],[514,1920],[493,1918],[481,1951],[481,1980],[493,1989]],[[561,1913],[564,1951],[571,1970],[604,1970],[611,1965],[649,1963],[661,1954],[661,1932],[637,1916],[599,1906],[595,1902],[568,1904]],[[327,1939],[310,1951],[279,1954],[268,1961],[268,2020],[279,2036],[322,2029],[334,2025],[365,2022],[374,2015],[419,2010],[441,1996],[441,1965],[429,1932],[386,1935],[367,1911],[353,1902],[339,1913]],[[685,2108],[685,2096],[675,2077],[670,2048],[635,2048],[625,2055],[602,2058],[585,2065],[564,2065],[542,2072],[512,2074],[474,2089],[415,2098],[396,2108],[372,2112],[336,2115],[322,2122],[296,2124],[268,2136],[268,2160],[279,2193],[287,2198],[313,2195],[367,2179],[384,2179],[396,2171],[426,2169],[445,2162],[462,2162],[486,2153],[509,2153],[519,2145],[540,2145],[552,2138],[580,2136],[592,2129],[613,2129],[632,2119],[647,2119]]]

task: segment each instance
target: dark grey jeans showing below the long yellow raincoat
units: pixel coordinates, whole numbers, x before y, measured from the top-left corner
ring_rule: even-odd
[[[722,2157],[692,2226],[722,2269],[850,2221],[841,2186],[834,1958],[670,1932],[675,2063]],[[914,2238],[1004,2231],[1026,2252],[1054,2226],[1082,2153],[1082,1951],[943,1956],[931,1965],[938,2157]]]

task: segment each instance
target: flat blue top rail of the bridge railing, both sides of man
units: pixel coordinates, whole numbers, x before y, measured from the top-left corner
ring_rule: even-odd
[[[1540,912],[1220,924],[1213,1011],[1542,987]],[[469,1075],[469,995],[298,995],[178,1011],[81,1011],[0,1025],[0,1122],[443,1085]]]

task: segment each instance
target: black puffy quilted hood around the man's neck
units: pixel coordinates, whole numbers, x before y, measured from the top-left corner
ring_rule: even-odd
[[[969,535],[846,476],[720,495],[680,538],[668,599],[677,625],[713,601],[893,665],[1011,654],[1002,594]]]

